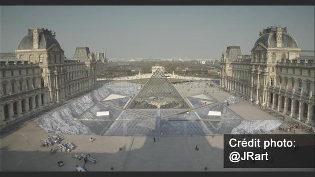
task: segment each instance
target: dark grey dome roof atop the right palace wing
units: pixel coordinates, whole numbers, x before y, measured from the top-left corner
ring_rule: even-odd
[[[255,42],[255,45],[258,43],[262,43],[266,47],[277,47],[277,31],[270,30],[262,34]],[[286,32],[282,32],[282,47],[299,48],[294,37]]]

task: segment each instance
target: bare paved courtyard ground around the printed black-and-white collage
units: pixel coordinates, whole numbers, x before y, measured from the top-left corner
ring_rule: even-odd
[[[114,83],[113,86],[131,87],[130,83]],[[198,88],[199,86],[199,88]],[[184,88],[183,88],[184,87]],[[191,88],[192,87],[192,88]],[[176,85],[183,97],[210,93],[216,100],[223,102],[230,95],[217,88],[206,88],[204,83],[191,86]],[[187,89],[190,88],[189,91]],[[214,90],[214,92],[213,92]],[[115,96],[115,95],[113,95]],[[123,99],[123,98],[122,98]],[[245,120],[276,120],[277,118],[240,101],[228,106]],[[284,124],[281,126],[285,126]],[[272,134],[284,133],[278,130]],[[291,132],[285,132],[291,133]],[[297,130],[296,133],[303,133]],[[99,136],[63,135],[62,142],[73,142],[77,148],[70,153],[49,152],[50,147],[42,147],[47,132],[34,121],[29,120],[19,127],[6,130],[0,139],[1,171],[73,171],[75,165],[83,167],[84,162],[73,158],[75,154],[90,153],[97,163],[88,162],[90,171],[314,171],[314,169],[224,169],[223,136]],[[199,151],[194,148],[198,145]],[[55,145],[56,146],[56,145]],[[57,162],[63,160],[59,167]]]

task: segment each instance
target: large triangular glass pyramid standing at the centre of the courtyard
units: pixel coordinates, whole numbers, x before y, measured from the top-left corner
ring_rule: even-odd
[[[189,109],[188,103],[158,69],[130,101],[129,109]]]

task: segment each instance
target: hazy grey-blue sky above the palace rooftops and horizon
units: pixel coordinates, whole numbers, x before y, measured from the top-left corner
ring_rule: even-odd
[[[67,58],[89,47],[109,59],[220,59],[227,46],[250,54],[259,31],[278,25],[314,50],[314,14],[314,6],[1,6],[0,51],[14,52],[38,27],[56,32]]]

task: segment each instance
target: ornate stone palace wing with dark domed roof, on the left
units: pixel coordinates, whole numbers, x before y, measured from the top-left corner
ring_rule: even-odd
[[[29,29],[15,53],[1,54],[1,128],[95,88],[94,55],[65,59],[55,36]]]

